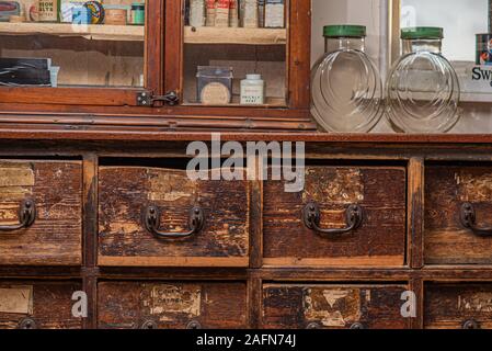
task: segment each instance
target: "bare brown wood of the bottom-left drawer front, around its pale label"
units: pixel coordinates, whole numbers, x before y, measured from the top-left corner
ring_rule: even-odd
[[[20,287],[32,290],[26,297],[32,306],[30,313],[12,314],[0,310],[0,329],[15,329],[24,318],[34,319],[38,329],[80,329],[82,319],[72,316],[71,299],[75,292],[81,290],[80,282],[45,282],[45,281],[1,281],[0,290],[12,291]],[[9,294],[3,294],[3,296]],[[4,297],[5,298],[5,297]],[[0,299],[0,305],[7,301]],[[8,308],[5,308],[8,309]]]

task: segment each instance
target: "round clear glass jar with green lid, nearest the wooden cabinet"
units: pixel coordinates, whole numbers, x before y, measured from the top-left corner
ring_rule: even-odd
[[[327,132],[366,133],[382,116],[382,82],[365,53],[366,27],[328,25],[311,73],[311,113]]]

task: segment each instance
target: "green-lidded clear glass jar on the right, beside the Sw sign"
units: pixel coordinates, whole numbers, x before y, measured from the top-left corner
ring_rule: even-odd
[[[387,116],[398,132],[446,133],[458,122],[458,76],[442,55],[443,29],[401,31],[402,57],[387,84]]]

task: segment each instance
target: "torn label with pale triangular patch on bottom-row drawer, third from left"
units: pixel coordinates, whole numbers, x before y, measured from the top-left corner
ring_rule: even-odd
[[[320,321],[325,327],[345,327],[361,320],[359,291],[305,288],[304,312],[307,321]]]

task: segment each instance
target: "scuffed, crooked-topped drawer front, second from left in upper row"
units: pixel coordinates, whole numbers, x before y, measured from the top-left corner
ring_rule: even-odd
[[[185,171],[142,167],[100,169],[99,264],[149,267],[248,267],[247,181],[191,181]],[[185,238],[150,231],[146,214],[156,207],[164,234],[192,228],[191,211],[203,211],[203,227]]]

